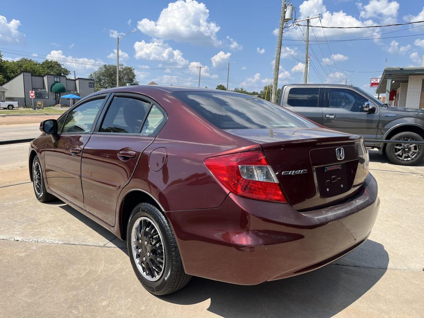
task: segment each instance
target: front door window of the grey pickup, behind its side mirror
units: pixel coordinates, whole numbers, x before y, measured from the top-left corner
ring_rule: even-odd
[[[363,112],[364,104],[368,101],[357,92],[350,89],[330,88],[328,107],[344,108],[350,112]]]

